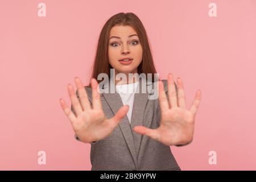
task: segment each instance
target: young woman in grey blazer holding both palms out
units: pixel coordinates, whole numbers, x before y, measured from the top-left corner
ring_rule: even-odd
[[[127,80],[111,76],[110,69]],[[101,73],[109,76],[117,92],[98,92],[96,79]],[[141,20],[133,13],[119,13],[102,28],[90,84],[83,86],[76,77],[76,93],[68,84],[71,109],[60,99],[76,139],[91,144],[92,170],[180,170],[170,146],[192,142],[201,91],[187,110],[181,78],[177,85],[171,73],[168,80],[157,80],[158,99],[149,100],[151,93],[142,93],[138,86],[147,77],[129,77],[129,73],[151,73],[152,84],[156,70]],[[123,92],[129,88],[135,89]]]

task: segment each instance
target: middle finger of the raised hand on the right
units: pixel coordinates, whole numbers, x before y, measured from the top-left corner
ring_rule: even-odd
[[[172,73],[168,74],[168,97],[171,108],[177,107],[177,93]]]

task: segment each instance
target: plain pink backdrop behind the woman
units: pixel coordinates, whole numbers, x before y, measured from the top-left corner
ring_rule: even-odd
[[[46,3],[46,17],[38,4]],[[209,3],[217,17],[209,17]],[[256,1],[0,1],[0,169],[90,170],[59,99],[84,84],[110,16],[133,12],[156,69],[183,78],[187,107],[202,100],[193,143],[171,147],[183,170],[256,169]],[[38,151],[46,151],[46,165]],[[209,151],[217,164],[208,163]]]

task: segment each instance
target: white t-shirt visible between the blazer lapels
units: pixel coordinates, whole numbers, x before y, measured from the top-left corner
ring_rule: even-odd
[[[138,81],[133,84],[123,84],[123,85],[115,85],[117,93],[119,93],[123,105],[129,105],[129,110],[127,112],[128,120],[131,124],[131,114],[133,113],[133,101],[134,101],[134,93],[137,89]]]

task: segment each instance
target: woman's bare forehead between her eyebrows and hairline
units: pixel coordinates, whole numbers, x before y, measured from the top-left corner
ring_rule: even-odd
[[[134,30],[131,26],[114,26],[110,30],[110,36],[129,36],[131,34],[137,34],[137,32]]]

